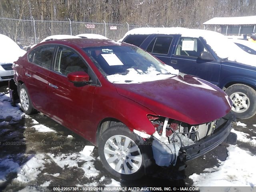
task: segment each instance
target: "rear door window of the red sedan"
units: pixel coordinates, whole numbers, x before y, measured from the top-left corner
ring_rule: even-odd
[[[28,54],[31,63],[50,69],[54,55],[55,46],[40,46]]]

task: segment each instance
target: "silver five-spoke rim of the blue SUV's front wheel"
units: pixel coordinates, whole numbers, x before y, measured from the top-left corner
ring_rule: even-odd
[[[243,113],[250,107],[250,99],[242,92],[234,92],[229,97],[232,102],[232,111],[236,113]]]

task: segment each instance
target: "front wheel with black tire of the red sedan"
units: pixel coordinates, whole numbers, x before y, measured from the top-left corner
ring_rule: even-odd
[[[133,152],[129,153],[129,150]],[[98,152],[106,170],[124,180],[141,178],[154,165],[151,145],[143,144],[141,138],[124,124],[114,125],[102,134]]]

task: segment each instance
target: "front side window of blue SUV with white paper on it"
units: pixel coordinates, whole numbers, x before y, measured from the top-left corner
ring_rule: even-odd
[[[189,56],[198,58],[203,52],[209,52],[198,38],[180,38],[176,50],[176,56]]]

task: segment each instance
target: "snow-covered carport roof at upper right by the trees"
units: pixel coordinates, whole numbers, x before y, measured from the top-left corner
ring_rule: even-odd
[[[246,17],[214,17],[203,23],[204,25],[246,25],[256,24],[256,16]]]

